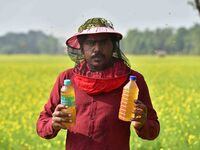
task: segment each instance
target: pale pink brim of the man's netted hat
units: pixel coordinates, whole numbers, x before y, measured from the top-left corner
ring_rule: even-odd
[[[78,42],[77,37],[80,35],[87,35],[87,34],[98,34],[98,33],[109,33],[109,34],[113,34],[116,36],[116,38],[118,40],[122,39],[122,34],[119,32],[116,32],[114,29],[109,28],[109,27],[95,27],[95,28],[90,28],[90,29],[86,29],[83,30],[82,32],[78,32],[75,35],[73,35],[72,37],[70,37],[67,41],[66,41],[66,45],[70,46],[71,48],[74,49],[80,49],[80,44]]]

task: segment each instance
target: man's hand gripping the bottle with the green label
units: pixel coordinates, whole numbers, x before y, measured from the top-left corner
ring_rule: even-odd
[[[52,126],[54,130],[66,129],[65,123],[71,122],[71,114],[66,112],[67,106],[58,104],[52,114]]]

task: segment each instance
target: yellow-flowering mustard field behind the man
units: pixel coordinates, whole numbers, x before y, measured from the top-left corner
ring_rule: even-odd
[[[200,57],[128,58],[145,77],[161,126],[153,141],[132,129],[131,150],[200,149]],[[65,149],[65,130],[45,140],[36,133],[36,121],[57,75],[73,66],[64,55],[0,55],[1,150]]]

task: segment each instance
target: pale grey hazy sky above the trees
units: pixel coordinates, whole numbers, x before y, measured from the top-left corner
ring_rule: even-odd
[[[0,0],[0,36],[41,30],[70,37],[91,17],[104,17],[125,35],[130,29],[189,28],[200,23],[188,0]]]

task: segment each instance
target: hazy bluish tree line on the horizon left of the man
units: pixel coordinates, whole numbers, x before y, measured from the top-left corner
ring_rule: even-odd
[[[41,31],[28,33],[8,33],[0,37],[0,54],[55,54],[61,53],[58,38]]]

